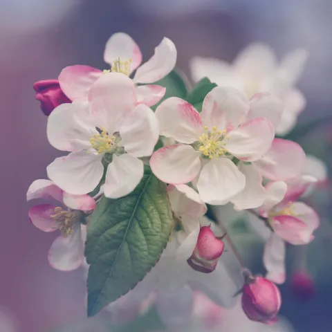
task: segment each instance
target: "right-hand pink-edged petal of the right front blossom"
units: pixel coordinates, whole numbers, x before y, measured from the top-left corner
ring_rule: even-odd
[[[266,118],[255,118],[228,133],[225,149],[244,161],[255,161],[270,149],[275,130]]]

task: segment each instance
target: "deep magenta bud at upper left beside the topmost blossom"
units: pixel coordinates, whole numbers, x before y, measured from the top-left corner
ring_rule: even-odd
[[[49,116],[55,107],[71,102],[62,92],[58,80],[35,82],[33,89],[36,91],[36,99],[40,102],[40,109],[46,116]]]

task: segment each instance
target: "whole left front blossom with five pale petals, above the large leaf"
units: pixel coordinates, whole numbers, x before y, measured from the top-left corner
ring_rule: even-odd
[[[90,109],[91,108],[91,109]],[[154,112],[137,105],[135,85],[126,75],[104,75],[89,91],[89,103],[62,104],[48,117],[53,147],[71,151],[48,165],[48,177],[70,194],[92,192],[107,172],[105,196],[116,199],[140,183],[144,165],[158,140]]]

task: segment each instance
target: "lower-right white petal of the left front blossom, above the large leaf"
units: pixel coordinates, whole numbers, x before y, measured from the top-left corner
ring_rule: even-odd
[[[109,199],[118,199],[130,194],[142,180],[143,174],[142,160],[130,154],[113,155],[113,161],[107,167],[104,195]]]

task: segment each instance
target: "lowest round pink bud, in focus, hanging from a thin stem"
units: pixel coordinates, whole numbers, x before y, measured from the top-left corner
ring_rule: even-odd
[[[250,320],[273,324],[282,305],[282,295],[273,282],[264,277],[248,277],[243,286],[242,308]]]

